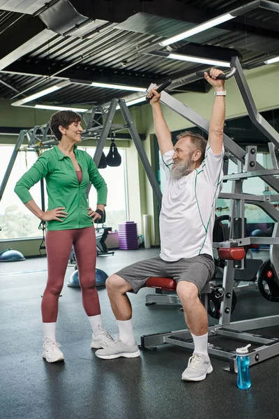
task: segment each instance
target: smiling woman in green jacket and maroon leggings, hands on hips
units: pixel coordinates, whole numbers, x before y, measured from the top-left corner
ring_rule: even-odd
[[[44,152],[15,186],[15,193],[26,207],[47,223],[47,286],[42,300],[44,329],[43,358],[47,362],[64,360],[56,342],[58,299],[70,251],[75,250],[82,303],[93,329],[91,348],[100,348],[110,335],[102,328],[100,303],[96,291],[96,237],[93,221],[100,219],[107,203],[107,185],[88,153],[77,149],[81,142],[81,117],[66,110],[56,112],[50,128],[59,144]],[[40,179],[47,184],[48,210],[40,210],[29,189]],[[87,205],[86,188],[93,184],[97,207]]]

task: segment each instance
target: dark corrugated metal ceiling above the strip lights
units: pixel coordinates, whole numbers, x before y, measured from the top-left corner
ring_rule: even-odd
[[[195,6],[195,8],[202,8],[204,11],[214,10],[218,15],[226,13],[236,7],[243,6],[247,1],[183,1],[187,7]],[[275,3],[279,3],[276,0]],[[13,24],[19,13],[13,13],[0,10],[0,42],[1,31],[4,31],[9,24]],[[138,21],[137,21],[138,19]],[[139,13],[138,16],[133,16],[123,24],[104,24],[103,29],[91,31],[91,24],[87,22],[86,30],[88,37],[82,38],[73,36],[54,36],[48,43],[44,43],[33,50],[31,53],[25,55],[15,62],[15,68],[18,73],[0,73],[0,79],[10,84],[18,91],[24,91],[33,87],[40,82],[38,86],[29,89],[25,94],[33,94],[38,90],[45,89],[52,84],[56,84],[55,78],[48,78],[47,75],[53,75],[57,69],[60,71],[67,66],[71,66],[72,73],[75,71],[87,72],[91,81],[96,81],[96,75],[100,75],[99,79],[110,76],[113,82],[114,76],[117,75],[123,78],[123,83],[129,84],[129,77],[134,76],[134,85],[137,82],[139,87],[147,87],[151,81],[165,78],[180,77],[184,73],[189,73],[195,70],[197,66],[184,61],[174,61],[162,57],[154,57],[147,54],[142,54],[141,50],[148,45],[155,45],[163,40],[163,37],[173,36],[185,31],[189,27],[195,26],[193,22],[182,22],[171,19],[171,17],[160,17],[155,15],[144,15]],[[144,22],[144,24],[143,24]],[[244,25],[244,31],[239,29],[231,30],[223,27],[214,27],[208,31],[192,36],[188,39],[191,43],[199,45],[216,45],[218,47],[234,48],[238,50],[243,57],[243,64],[256,64],[266,58],[266,54],[279,54],[279,16],[278,13],[269,10],[253,10],[246,13],[243,17],[239,17],[239,23]],[[245,30],[246,22],[249,22],[249,31]],[[261,28],[261,33],[253,34],[250,30],[250,24],[258,22]],[[16,24],[16,23],[15,23]],[[273,31],[274,37],[266,32],[262,25],[269,26]],[[129,26],[130,25],[130,26]],[[93,28],[93,22],[92,22]],[[126,28],[121,29],[121,28]],[[129,28],[129,30],[127,30]],[[278,36],[276,37],[276,33]],[[38,65],[45,67],[45,77],[30,75],[26,68],[29,65],[33,68],[33,73],[36,73]],[[20,67],[24,68],[20,71]],[[13,71],[13,64],[7,71]],[[14,70],[15,71],[15,70]],[[58,77],[66,77],[66,70],[59,73]],[[73,78],[73,76],[71,76]],[[98,80],[98,81],[100,81]],[[121,80],[121,79],[119,79]],[[64,87],[61,90],[55,91],[43,98],[38,99],[40,103],[55,103],[55,104],[73,104],[73,103],[107,103],[111,98],[126,96],[127,91],[109,90],[93,88],[87,85],[71,84],[69,87]],[[9,89],[0,83],[0,96],[3,98],[13,98],[15,91]],[[23,98],[17,96],[15,100]]]

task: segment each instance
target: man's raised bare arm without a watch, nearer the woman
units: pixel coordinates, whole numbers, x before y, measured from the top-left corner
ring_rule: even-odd
[[[158,138],[160,153],[163,156],[163,154],[174,148],[172,145],[172,135],[169,132],[169,128],[167,128],[167,124],[160,107],[160,94],[157,93],[156,89],[151,89],[148,96],[151,98],[150,104],[153,111],[155,133]]]

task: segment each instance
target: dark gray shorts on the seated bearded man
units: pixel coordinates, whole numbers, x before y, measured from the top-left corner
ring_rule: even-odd
[[[166,262],[160,256],[133,263],[116,272],[116,275],[125,279],[133,291],[137,293],[149,277],[166,277],[176,281],[188,281],[202,291],[205,284],[211,280],[214,273],[214,262],[208,255],[199,255],[194,258],[180,259],[175,262]]]

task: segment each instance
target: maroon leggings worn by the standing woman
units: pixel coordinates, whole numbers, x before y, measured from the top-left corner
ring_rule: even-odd
[[[95,228],[47,231],[47,286],[43,293],[42,316],[44,323],[56,322],[58,299],[63,288],[64,277],[72,246],[75,250],[79,272],[82,304],[87,316],[100,314],[99,297],[96,290],[96,236]]]

